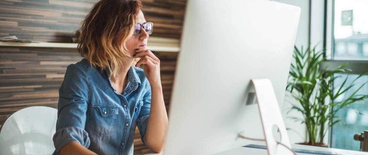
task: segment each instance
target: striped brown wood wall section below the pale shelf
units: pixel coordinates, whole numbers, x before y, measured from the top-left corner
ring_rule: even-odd
[[[161,61],[163,97],[168,111],[177,52],[155,52]],[[14,112],[32,106],[57,108],[66,68],[82,58],[73,48],[0,48],[0,127]],[[134,155],[152,153],[135,130]]]

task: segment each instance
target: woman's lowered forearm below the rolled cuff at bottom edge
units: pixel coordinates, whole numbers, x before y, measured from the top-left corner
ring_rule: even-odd
[[[60,149],[59,155],[97,155],[76,141],[66,144]]]

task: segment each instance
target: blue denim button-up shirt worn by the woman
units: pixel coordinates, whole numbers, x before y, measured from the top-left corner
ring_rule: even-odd
[[[72,141],[99,155],[132,155],[137,125],[143,141],[151,107],[151,86],[143,70],[130,67],[123,94],[107,73],[86,59],[68,66],[59,89],[53,155]]]

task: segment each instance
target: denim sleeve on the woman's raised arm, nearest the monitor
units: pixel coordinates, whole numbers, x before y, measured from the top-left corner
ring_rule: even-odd
[[[138,129],[141,134],[141,140],[144,143],[143,136],[146,134],[149,110],[151,108],[151,86],[149,83],[146,85],[147,92],[143,96],[143,106],[138,116]]]

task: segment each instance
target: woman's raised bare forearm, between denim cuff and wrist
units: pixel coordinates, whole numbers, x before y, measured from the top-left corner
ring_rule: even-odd
[[[144,142],[155,153],[164,149],[165,136],[169,119],[167,118],[165,103],[163,101],[161,84],[151,85],[151,109],[147,123]]]

